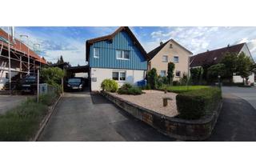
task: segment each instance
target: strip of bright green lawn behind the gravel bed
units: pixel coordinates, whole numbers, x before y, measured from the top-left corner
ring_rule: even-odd
[[[169,92],[174,92],[176,94],[181,94],[191,90],[201,90],[209,86],[166,86],[166,90]],[[164,88],[162,89],[164,90]]]

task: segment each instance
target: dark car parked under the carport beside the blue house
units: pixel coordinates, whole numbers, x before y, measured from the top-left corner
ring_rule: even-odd
[[[67,80],[66,88],[68,90],[84,90],[85,81],[83,78],[69,78]]]

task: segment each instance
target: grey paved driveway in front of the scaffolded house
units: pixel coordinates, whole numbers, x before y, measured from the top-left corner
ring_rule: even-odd
[[[18,95],[0,95],[0,114],[5,114],[7,110],[18,106],[26,98],[26,96]]]

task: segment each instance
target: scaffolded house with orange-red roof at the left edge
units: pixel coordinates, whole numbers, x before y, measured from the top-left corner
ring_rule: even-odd
[[[9,43],[10,39],[10,74],[9,74]],[[29,57],[28,57],[29,55]],[[6,31],[0,29],[0,90],[26,74],[36,74],[37,66],[46,64],[34,50],[30,50],[23,42],[11,35],[8,38]]]

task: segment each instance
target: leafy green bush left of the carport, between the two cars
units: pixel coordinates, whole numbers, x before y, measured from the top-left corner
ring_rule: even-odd
[[[58,67],[42,68],[40,77],[43,82],[56,87],[58,93],[61,92],[62,78],[64,77],[64,71],[62,69]]]

